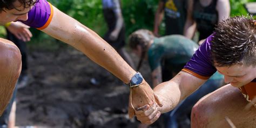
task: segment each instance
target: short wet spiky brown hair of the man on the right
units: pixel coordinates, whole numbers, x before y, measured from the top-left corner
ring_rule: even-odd
[[[211,44],[215,66],[256,65],[255,28],[252,16],[236,16],[218,23]]]

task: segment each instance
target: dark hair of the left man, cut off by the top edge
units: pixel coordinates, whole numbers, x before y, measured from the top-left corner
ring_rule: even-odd
[[[14,2],[19,1],[24,8],[30,8],[30,6],[34,5],[38,2],[38,0],[0,0],[0,12],[4,11],[4,9],[11,10],[16,9]],[[21,11],[21,10],[19,10]]]

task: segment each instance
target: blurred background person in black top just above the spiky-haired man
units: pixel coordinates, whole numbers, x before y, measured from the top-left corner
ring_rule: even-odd
[[[230,16],[228,0],[191,0],[188,2],[184,36],[192,39],[199,32],[199,44],[214,31],[215,25]]]

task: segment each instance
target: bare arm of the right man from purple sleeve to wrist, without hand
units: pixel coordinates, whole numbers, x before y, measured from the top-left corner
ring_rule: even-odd
[[[196,91],[205,81],[187,72],[180,71],[178,75],[168,82],[157,85],[153,90],[159,96],[160,100],[163,101],[160,112],[164,113],[174,109],[179,102]]]

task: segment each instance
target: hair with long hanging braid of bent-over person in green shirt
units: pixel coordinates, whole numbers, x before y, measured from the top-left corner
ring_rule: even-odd
[[[129,36],[129,46],[131,49],[137,49],[137,46],[142,46],[142,56],[140,57],[139,64],[137,66],[137,71],[139,71],[140,67],[142,66],[143,59],[146,55],[147,45],[154,39],[154,35],[151,31],[146,29],[139,29],[134,31]]]

